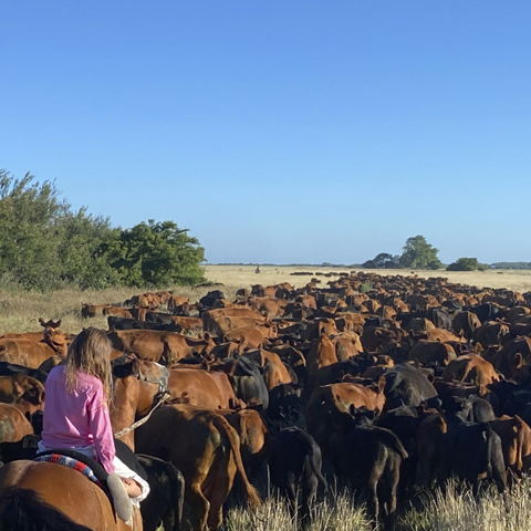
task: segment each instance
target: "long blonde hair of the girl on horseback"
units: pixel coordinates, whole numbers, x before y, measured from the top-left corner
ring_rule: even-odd
[[[77,388],[77,374],[83,371],[102,382],[105,399],[110,404],[113,397],[111,351],[111,342],[102,330],[91,326],[77,334],[66,357],[66,391],[73,393]]]

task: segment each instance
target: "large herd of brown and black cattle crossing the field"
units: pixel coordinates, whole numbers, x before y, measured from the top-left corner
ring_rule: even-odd
[[[323,282],[253,285],[233,301],[162,291],[82,305],[87,326],[107,316],[113,358],[169,369],[157,395],[135,392],[146,421],[124,437],[177,478],[144,529],[180,529],[183,497],[195,530],[218,529],[233,486],[260,503],[266,465],[302,522],[339,482],[387,528],[451,476],[503,491],[530,470],[531,293],[414,274]],[[42,383],[72,341],[60,322],[41,325],[0,336],[3,461],[17,457],[4,442],[39,433]]]

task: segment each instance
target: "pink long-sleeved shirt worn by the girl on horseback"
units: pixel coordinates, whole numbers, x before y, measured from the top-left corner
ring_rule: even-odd
[[[45,391],[42,444],[72,449],[94,446],[105,470],[114,472],[116,449],[102,382],[80,372],[77,389],[69,393],[65,367],[59,365],[50,372]]]

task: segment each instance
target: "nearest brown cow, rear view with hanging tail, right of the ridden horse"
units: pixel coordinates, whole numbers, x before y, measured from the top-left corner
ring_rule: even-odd
[[[238,434],[215,412],[186,405],[156,409],[137,429],[135,451],[170,461],[180,470],[194,531],[220,528],[237,475],[248,503],[260,503],[243,468]]]

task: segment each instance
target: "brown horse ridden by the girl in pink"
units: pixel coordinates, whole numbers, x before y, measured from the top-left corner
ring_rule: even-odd
[[[116,392],[114,429],[147,414],[165,393],[168,371],[132,356],[118,360],[113,372]],[[0,531],[129,531],[117,519],[104,491],[71,468],[50,462],[13,461],[0,469]],[[136,510],[133,529],[142,531]]]

